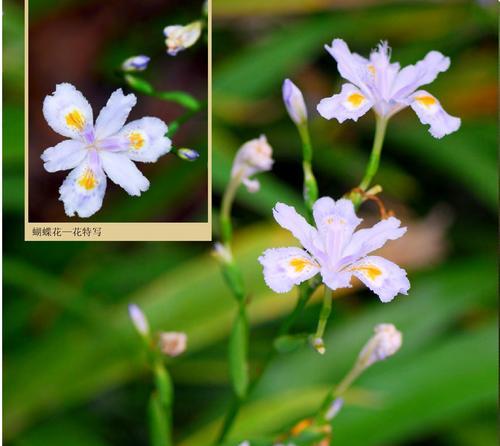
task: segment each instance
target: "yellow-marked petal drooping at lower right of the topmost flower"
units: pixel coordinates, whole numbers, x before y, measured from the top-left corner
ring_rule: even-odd
[[[440,102],[424,90],[419,90],[410,97],[410,106],[422,124],[429,124],[429,132],[434,138],[442,138],[457,131],[460,118],[451,116],[441,107]]]

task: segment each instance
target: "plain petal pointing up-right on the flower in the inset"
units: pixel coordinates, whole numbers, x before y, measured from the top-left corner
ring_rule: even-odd
[[[96,137],[102,139],[118,132],[136,103],[135,94],[130,93],[125,96],[121,88],[115,90],[96,119]]]

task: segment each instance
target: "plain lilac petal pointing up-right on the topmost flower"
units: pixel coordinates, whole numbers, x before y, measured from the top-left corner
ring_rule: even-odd
[[[433,82],[439,73],[450,67],[450,59],[439,51],[430,51],[415,65],[404,67],[397,75],[392,86],[391,96],[401,99],[413,93],[422,85]]]

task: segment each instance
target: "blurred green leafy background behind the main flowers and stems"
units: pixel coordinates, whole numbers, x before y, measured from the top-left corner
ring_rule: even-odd
[[[74,7],[53,3],[59,11]],[[39,4],[43,17],[46,3]],[[133,301],[155,329],[187,332],[188,352],[169,364],[175,437],[182,446],[210,444],[231,396],[226,344],[236,311],[210,245],[22,241],[22,9],[12,1],[4,8],[5,443],[148,444],[151,383],[127,318]],[[382,305],[364,288],[339,293],[327,354],[304,347],[280,355],[230,444],[273,435],[314,411],[380,322],[396,324],[404,346],[347,395],[332,444],[497,444],[496,8],[460,1],[214,0],[214,216],[242,142],[265,133],[276,158],[273,172],[260,177],[261,191],[241,191],[234,210],[235,256],[252,298],[254,371],[295,301],[294,293],[265,287],[256,261],[265,248],[291,241],[271,221],[275,202],[302,208],[300,145],[281,102],[283,79],[302,89],[309,106],[324,195],[338,197],[357,184],[374,127],[370,115],[338,125],[315,112],[341,83],[323,49],[334,37],[365,55],[388,39],[403,65],[442,51],[452,65],[428,89],[463,122],[435,140],[411,110],[393,118],[376,182],[409,226],[385,254],[408,269],[410,294]],[[189,165],[179,175],[196,181],[203,173]],[[183,195],[182,186],[169,190],[165,206],[182,209]],[[366,205],[363,214],[373,219],[376,209]],[[317,303],[307,307],[298,332],[314,327]]]

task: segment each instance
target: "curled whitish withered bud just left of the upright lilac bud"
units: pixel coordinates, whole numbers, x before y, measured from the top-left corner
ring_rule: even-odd
[[[240,177],[248,192],[257,192],[260,187],[258,180],[250,179],[256,173],[271,170],[274,160],[273,149],[264,135],[243,144],[234,158],[231,177]]]

